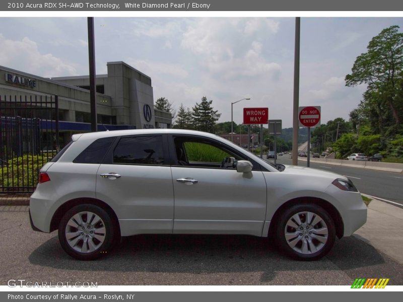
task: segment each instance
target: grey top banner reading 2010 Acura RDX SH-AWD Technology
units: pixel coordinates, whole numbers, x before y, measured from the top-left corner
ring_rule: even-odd
[[[78,2],[51,2],[44,0],[17,0],[0,3],[0,9],[8,12],[46,11],[166,11],[166,12],[293,12],[293,11],[403,11],[403,2],[396,0],[96,0]]]

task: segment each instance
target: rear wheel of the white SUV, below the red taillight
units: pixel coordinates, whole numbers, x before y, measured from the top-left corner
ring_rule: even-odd
[[[67,254],[78,260],[95,260],[110,250],[116,231],[104,209],[93,204],[80,204],[63,215],[58,235]]]

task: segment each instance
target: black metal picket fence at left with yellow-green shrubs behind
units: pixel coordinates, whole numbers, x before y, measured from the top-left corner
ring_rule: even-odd
[[[57,96],[0,96],[0,193],[31,193],[58,151]]]

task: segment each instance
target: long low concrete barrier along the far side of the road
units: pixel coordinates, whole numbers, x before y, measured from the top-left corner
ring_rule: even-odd
[[[299,161],[306,161],[307,158],[298,157]],[[311,163],[322,163],[327,165],[336,165],[344,167],[362,168],[379,170],[386,172],[403,173],[403,164],[380,163],[380,162],[364,162],[364,161],[347,161],[347,160],[332,160],[332,159],[314,159],[310,158]]]

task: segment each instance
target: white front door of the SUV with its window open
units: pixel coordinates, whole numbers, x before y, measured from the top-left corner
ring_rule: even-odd
[[[261,236],[267,199],[262,172],[238,173],[226,162],[243,158],[214,140],[196,136],[172,139],[177,157],[177,165],[171,168],[173,233]]]

